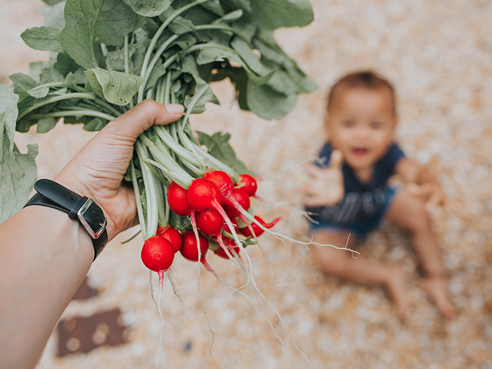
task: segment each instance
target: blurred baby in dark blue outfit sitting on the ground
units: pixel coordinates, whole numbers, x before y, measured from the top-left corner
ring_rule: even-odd
[[[422,287],[437,309],[453,318],[446,273],[432,231],[429,209],[447,202],[439,182],[410,160],[394,141],[395,92],[373,72],[354,72],[332,87],[326,107],[323,145],[316,166],[308,168],[305,205],[312,212],[313,239],[349,248],[382,221],[411,233],[411,243],[422,266]],[[409,184],[396,190],[388,184],[398,174]],[[349,237],[350,235],[350,237]],[[404,275],[400,268],[332,247],[314,247],[325,273],[359,283],[387,288],[402,320],[408,310]]]

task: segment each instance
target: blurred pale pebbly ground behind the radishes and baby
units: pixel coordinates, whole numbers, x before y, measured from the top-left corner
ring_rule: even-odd
[[[406,153],[426,164],[469,216],[432,214],[459,315],[441,318],[419,287],[408,238],[384,226],[358,251],[388,261],[408,276],[411,311],[400,323],[387,294],[328,278],[302,245],[264,235],[251,247],[259,289],[273,310],[283,344],[240,294],[178,257],[173,273],[181,302],[164,280],[165,368],[492,368],[492,3],[470,1],[311,0],[308,27],[279,30],[279,44],[320,87],[300,96],[284,119],[268,122],[242,112],[229,82],[213,86],[221,106],[193,117],[193,128],[227,131],[238,157],[264,176],[254,202],[266,219],[283,216],[276,231],[306,238],[299,163],[323,144],[326,90],[340,75],[372,69],[396,86],[397,135]],[[28,48],[20,33],[41,25],[41,0],[0,0],[0,82],[28,72],[46,53]],[[17,134],[22,152],[39,143],[38,176],[53,178],[93,134],[63,124],[46,135]],[[292,205],[285,204],[292,202]],[[56,328],[39,368],[155,368],[160,321],[140,259],[138,231],[119,235],[89,271]],[[209,264],[233,285],[231,262]],[[153,277],[153,285],[157,280]],[[35,301],[32,302],[36,304]],[[204,311],[207,313],[207,319]],[[214,332],[214,339],[212,332]],[[212,345],[213,343],[213,345]],[[211,346],[212,345],[212,346]],[[84,352],[85,351],[85,352]]]

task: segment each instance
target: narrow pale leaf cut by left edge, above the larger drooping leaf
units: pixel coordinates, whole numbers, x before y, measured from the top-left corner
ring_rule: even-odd
[[[13,150],[13,135],[15,134],[15,121],[19,110],[17,102],[19,96],[13,92],[13,87],[0,84],[0,159],[3,153],[11,153]],[[5,133],[5,134],[4,134]],[[0,178],[2,178],[0,176]]]

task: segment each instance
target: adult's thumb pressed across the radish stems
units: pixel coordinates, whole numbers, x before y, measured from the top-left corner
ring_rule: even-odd
[[[153,100],[144,100],[123,115],[113,119],[101,132],[112,130],[120,138],[133,143],[136,138],[153,124],[169,124],[183,116],[181,104],[160,104]]]

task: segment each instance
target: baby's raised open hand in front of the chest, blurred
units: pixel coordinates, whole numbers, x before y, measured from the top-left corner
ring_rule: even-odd
[[[306,167],[309,181],[302,187],[306,206],[330,206],[342,200],[345,194],[343,159],[342,151],[333,150],[327,168],[321,169],[314,165]]]

